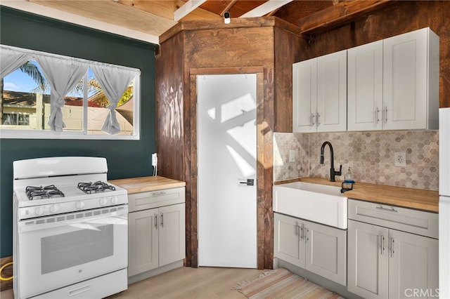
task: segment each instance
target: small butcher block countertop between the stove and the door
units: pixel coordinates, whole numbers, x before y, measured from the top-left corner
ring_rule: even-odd
[[[141,178],[122,178],[120,180],[108,180],[111,184],[127,190],[128,194],[185,187],[186,182],[164,178],[162,176],[143,176]]]

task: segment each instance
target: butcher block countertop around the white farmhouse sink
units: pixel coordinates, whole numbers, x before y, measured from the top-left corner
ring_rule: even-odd
[[[297,181],[312,182],[322,185],[334,185],[339,187],[341,187],[342,184],[342,181],[330,182],[330,180],[326,178],[307,177],[295,180],[278,181],[274,182],[274,185]],[[353,190],[345,192],[345,196],[349,199],[359,199],[380,204],[391,204],[393,206],[416,208],[418,210],[430,212],[439,211],[439,192],[431,190],[355,182],[353,185]]]

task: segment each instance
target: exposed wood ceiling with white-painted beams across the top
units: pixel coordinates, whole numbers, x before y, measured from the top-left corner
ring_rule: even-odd
[[[136,32],[160,36],[179,20],[219,20],[226,11],[229,11],[231,21],[233,18],[274,15],[297,25],[304,34],[315,34],[370,13],[383,7],[389,0],[28,0],[28,2]]]

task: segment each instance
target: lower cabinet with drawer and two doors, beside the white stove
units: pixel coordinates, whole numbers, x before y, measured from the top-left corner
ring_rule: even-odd
[[[183,260],[186,254],[184,187],[131,194],[129,201],[133,201],[130,206],[146,208],[128,215],[128,276]],[[153,206],[159,207],[149,208]]]

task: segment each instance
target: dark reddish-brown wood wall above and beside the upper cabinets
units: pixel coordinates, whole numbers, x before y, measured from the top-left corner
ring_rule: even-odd
[[[430,27],[440,39],[439,107],[450,107],[450,1],[392,1],[383,11],[313,36],[301,60]]]

